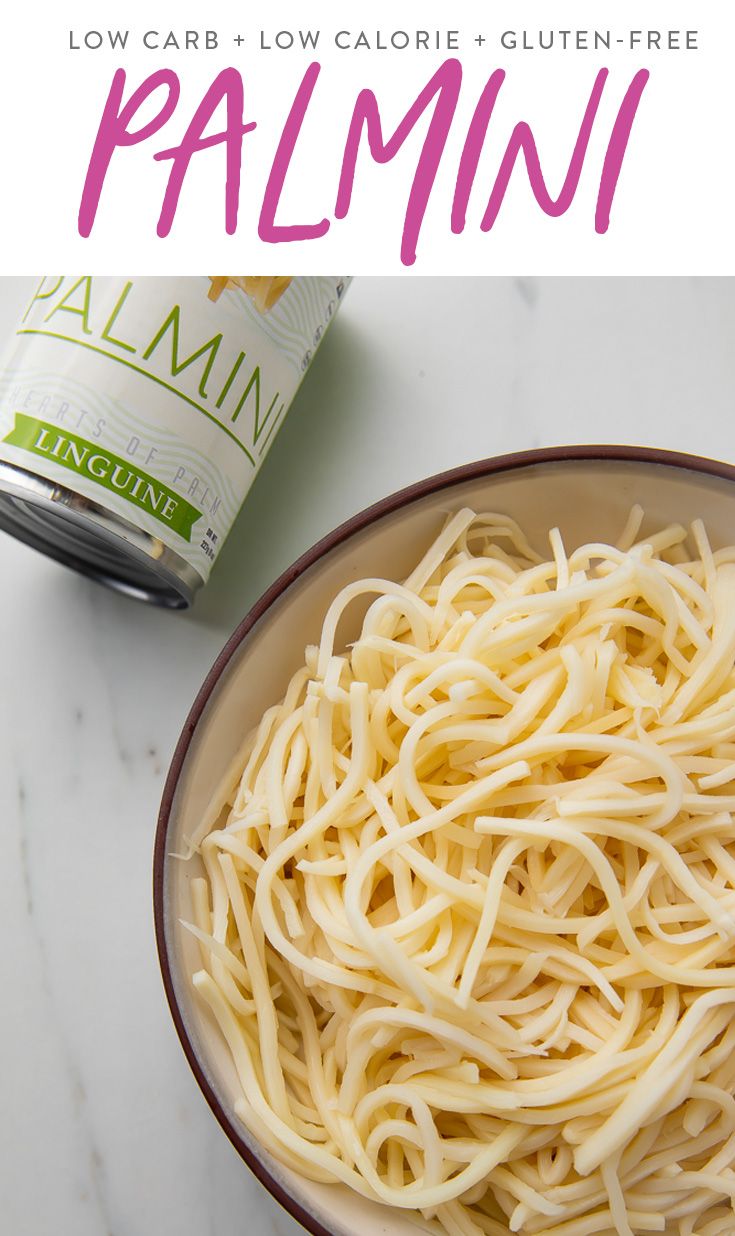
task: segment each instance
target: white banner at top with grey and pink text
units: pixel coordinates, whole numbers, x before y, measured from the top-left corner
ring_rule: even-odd
[[[726,0],[6,6],[0,273],[733,273]]]

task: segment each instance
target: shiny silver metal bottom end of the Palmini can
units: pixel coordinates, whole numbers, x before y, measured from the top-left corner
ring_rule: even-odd
[[[65,486],[0,462],[0,530],[137,601],[188,609],[204,580],[163,541]]]

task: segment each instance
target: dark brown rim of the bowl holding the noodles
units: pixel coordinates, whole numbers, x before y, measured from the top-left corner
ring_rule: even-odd
[[[285,1192],[279,1182],[271,1175],[261,1159],[252,1152],[250,1146],[247,1146],[245,1140],[237,1132],[235,1125],[227,1117],[226,1111],[224,1110],[220,1100],[214,1093],[214,1089],[208,1082],[201,1065],[199,1064],[196,1053],[187,1033],[182,1011],[174,993],[172,969],[166,942],[163,870],[170,810],[175,797],[179,776],[189,750],[189,744],[191,743],[196,726],[199,724],[212,691],[243,639],[246,639],[256,623],[259,622],[263,614],[271,608],[273,602],[277,601],[287,591],[287,588],[289,588],[290,585],[304,574],[304,571],[309,570],[310,566],[314,566],[314,564],[321,557],[325,557],[337,545],[341,545],[356,533],[362,531],[369,524],[377,523],[384,515],[393,514],[395,510],[400,510],[403,507],[408,507],[411,503],[418,502],[420,498],[425,498],[431,493],[437,493],[441,489],[452,488],[455,485],[460,485],[464,481],[478,481],[485,476],[495,476],[499,472],[511,472],[519,468],[531,467],[535,464],[565,464],[571,460],[589,462],[599,461],[608,464],[657,464],[662,467],[679,468],[684,472],[699,472],[705,476],[719,477],[724,481],[735,482],[735,466],[720,462],[719,460],[704,459],[699,455],[684,455],[678,451],[658,450],[650,446],[604,445],[548,446],[539,450],[518,451],[513,455],[497,455],[493,459],[479,460],[474,464],[466,464],[462,467],[452,468],[448,472],[439,472],[436,476],[427,477],[425,481],[418,481],[414,485],[409,485],[405,489],[399,489],[397,493],[392,493],[389,497],[382,498],[372,507],[367,507],[358,514],[352,515],[352,518],[347,519],[343,524],[340,524],[338,528],[335,528],[334,531],[324,536],[320,541],[313,545],[311,549],[308,549],[305,554],[301,554],[301,556],[293,562],[293,565],[289,566],[274,583],[271,585],[263,596],[256,601],[254,606],[230,637],[222,651],[215,660],[211,670],[206,675],[206,679],[204,680],[204,684],[191,706],[191,711],[187,717],[182,735],[177,743],[168,776],[166,779],[166,785],[163,787],[163,797],[161,800],[161,811],[158,815],[158,827],[156,831],[156,847],[153,853],[153,915],[156,921],[156,944],[158,948],[158,960],[161,964],[161,973],[163,975],[163,986],[166,988],[168,1006],[170,1009],[179,1041],[184,1048],[184,1054],[189,1062],[189,1067],[191,1068],[191,1072],[194,1073],[194,1077],[196,1078],[196,1082],[199,1083],[199,1086],[217,1122],[230,1138],[240,1157],[247,1163],[251,1172],[258,1178],[261,1184],[268,1189],[268,1193],[271,1193],[272,1196],[280,1203],[283,1209],[287,1210],[293,1219],[300,1222],[308,1232],[311,1232],[311,1236],[334,1236],[334,1232],[330,1232],[326,1227],[324,1227],[317,1219],[304,1210],[295,1198]]]

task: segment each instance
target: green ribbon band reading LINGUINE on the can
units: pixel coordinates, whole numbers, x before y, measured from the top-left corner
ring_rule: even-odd
[[[167,528],[173,528],[187,541],[191,540],[191,528],[201,519],[201,510],[148,472],[135,467],[130,460],[78,438],[77,434],[69,434],[65,429],[26,417],[22,412],[16,413],[14,428],[2,440],[9,446],[20,446],[23,451],[69,468],[109,493],[117,493],[138,510],[145,510]]]

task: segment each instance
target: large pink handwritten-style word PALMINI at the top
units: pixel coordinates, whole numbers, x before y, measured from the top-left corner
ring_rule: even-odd
[[[289,174],[292,177],[295,174],[293,171],[294,156],[299,142],[304,142],[304,122],[320,73],[321,67],[316,62],[311,63],[306,69],[275,147],[258,221],[258,236],[267,243],[316,240],[324,236],[331,226],[329,218],[319,219],[314,222],[277,222],[287,178]],[[514,126],[510,138],[500,147],[503,151],[500,166],[492,183],[481,220],[481,229],[483,231],[489,231],[495,224],[520,154],[523,154],[525,162],[531,193],[542,213],[551,218],[557,218],[569,209],[579,187],[584,163],[589,158],[589,146],[595,124],[599,127],[598,112],[608,77],[608,69],[603,68],[594,78],[579,129],[574,137],[565,178],[556,195],[547,187],[536,140],[530,125],[521,120]],[[594,215],[594,227],[598,234],[607,232],[610,225],[610,214],[621,176],[623,162],[649,78],[650,73],[647,69],[640,69],[635,74],[625,91],[609,136],[600,172]],[[490,121],[504,83],[505,72],[503,69],[497,69],[488,78],[467,129],[457,166],[451,203],[450,224],[455,234],[462,232],[466,227],[471,197],[476,192],[478,168],[488,142]],[[82,193],[78,218],[78,229],[82,236],[89,236],[93,230],[101,190],[115,151],[117,148],[137,146],[147,141],[168,124],[179,104],[180,85],[173,69],[158,69],[156,73],[152,73],[133,90],[127,101],[125,101],[125,72],[117,69],[103,109]],[[424,116],[427,116],[424,140],[413,169],[405,208],[403,209],[400,260],[404,266],[411,266],[416,261],[416,250],[426,210],[434,193],[441,161],[445,158],[448,135],[452,124],[455,124],[461,88],[462,66],[460,61],[445,61],[414,99],[389,136],[384,135],[383,117],[376,94],[372,90],[361,90],[352,109],[342,150],[335,200],[335,218],[340,220],[345,219],[351,209],[357,161],[361,146],[363,145],[363,137],[374,163],[389,163],[403,148]],[[138,112],[142,111],[143,106],[157,91],[162,91],[162,98],[154,104],[158,110],[147,121],[137,121],[138,127],[136,129]],[[225,146],[226,154],[224,187],[225,230],[227,235],[236,232],[243,137],[247,132],[256,129],[254,121],[245,121],[243,95],[245,90],[240,72],[235,68],[222,69],[206,90],[178,145],[161,150],[153,154],[153,158],[157,161],[170,161],[170,171],[157,224],[159,236],[168,236],[173,227],[184,180],[194,154],[219,145]],[[225,106],[226,111],[225,121],[216,132],[208,133],[206,130],[212,124],[221,105]],[[146,108],[146,114],[149,114],[149,111],[151,108]],[[330,127],[329,136],[331,136],[332,131],[334,126]],[[319,138],[324,140],[324,133],[320,133]]]

